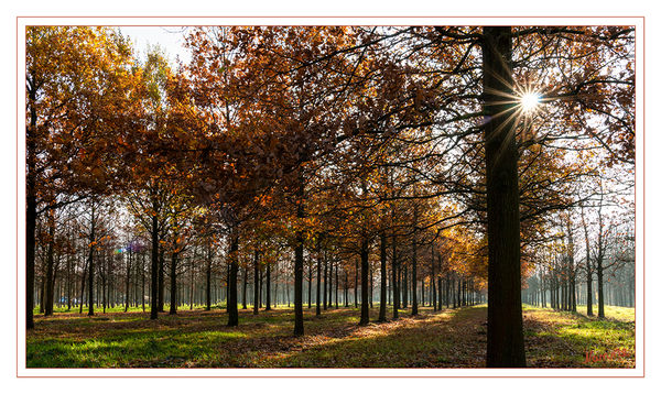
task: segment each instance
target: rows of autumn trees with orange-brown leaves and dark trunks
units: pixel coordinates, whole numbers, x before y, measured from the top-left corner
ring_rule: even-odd
[[[195,272],[207,306],[221,277],[236,326],[252,266],[267,298],[293,277],[295,335],[306,274],[311,302],[313,277],[322,299],[318,278],[337,297],[344,273],[360,324],[371,282],[393,318],[409,294],[418,313],[422,286],[446,299],[488,283],[487,364],[524,365],[522,275],[562,239],[559,215],[595,201],[587,179],[608,168],[624,182],[600,195],[621,197],[632,177],[632,42],[616,26],[197,28],[173,69],[109,29],[28,28],[28,328],[37,251],[48,311],[71,256],[82,293],[100,278],[107,300],[120,272],[126,299],[148,273],[152,319],[166,281],[175,311]]]

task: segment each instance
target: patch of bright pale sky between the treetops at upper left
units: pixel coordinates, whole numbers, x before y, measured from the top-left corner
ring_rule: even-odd
[[[130,37],[138,52],[138,58],[144,58],[149,46],[159,45],[170,63],[175,64],[176,56],[186,64],[191,61],[189,51],[184,47],[186,28],[177,26],[121,26],[121,34]]]

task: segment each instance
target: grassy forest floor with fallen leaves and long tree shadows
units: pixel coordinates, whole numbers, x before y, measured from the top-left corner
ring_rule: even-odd
[[[35,316],[26,337],[29,368],[484,368],[487,307],[479,305],[359,327],[358,308],[304,308],[305,336],[294,337],[293,309],[224,309]],[[524,306],[528,366],[633,368],[635,309],[606,307],[606,319]],[[389,308],[389,317],[392,311]],[[378,307],[371,309],[371,321]]]

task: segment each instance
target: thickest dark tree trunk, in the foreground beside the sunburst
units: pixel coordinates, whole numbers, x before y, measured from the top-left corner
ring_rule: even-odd
[[[511,28],[485,26],[483,84],[487,166],[489,305],[487,366],[525,366],[521,310],[518,152]]]

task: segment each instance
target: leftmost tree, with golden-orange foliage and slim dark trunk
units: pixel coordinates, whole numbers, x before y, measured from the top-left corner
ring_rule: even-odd
[[[35,222],[42,212],[108,189],[113,132],[130,123],[126,41],[104,28],[26,29],[26,327],[34,327]],[[102,94],[99,94],[102,92]],[[120,138],[121,139],[121,138]],[[119,139],[119,140],[120,140]]]

